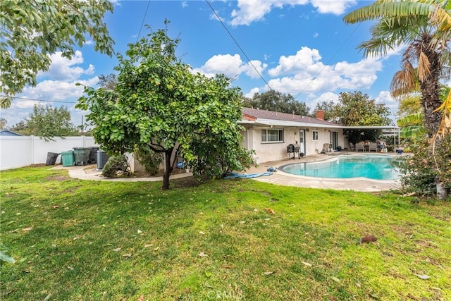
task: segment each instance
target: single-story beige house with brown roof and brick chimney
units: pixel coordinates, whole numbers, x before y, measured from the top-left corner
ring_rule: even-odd
[[[242,108],[243,147],[254,149],[257,163],[288,159],[288,145],[299,145],[304,156],[319,154],[325,144],[330,149],[347,147],[343,126],[324,120],[324,112],[316,118],[289,113]]]

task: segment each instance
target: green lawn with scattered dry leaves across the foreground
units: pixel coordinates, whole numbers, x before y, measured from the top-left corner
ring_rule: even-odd
[[[243,179],[162,191],[45,167],[0,176],[16,259],[1,300],[451,300],[449,202]],[[357,244],[368,234],[378,241]]]

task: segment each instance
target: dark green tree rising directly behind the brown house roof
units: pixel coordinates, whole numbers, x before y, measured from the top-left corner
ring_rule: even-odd
[[[283,94],[274,90],[255,93],[252,99],[243,99],[242,106],[303,116],[308,116],[310,110],[304,102],[297,102],[291,94]]]

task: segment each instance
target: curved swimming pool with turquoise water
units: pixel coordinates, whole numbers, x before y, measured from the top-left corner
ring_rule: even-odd
[[[399,178],[393,156],[339,155],[316,162],[295,163],[281,166],[280,170],[299,176],[319,178],[370,178],[395,180]]]

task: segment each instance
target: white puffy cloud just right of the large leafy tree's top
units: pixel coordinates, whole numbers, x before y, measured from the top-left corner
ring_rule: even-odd
[[[257,60],[251,62],[252,64],[243,62],[239,54],[233,56],[231,54],[218,54],[212,56],[201,68],[194,68],[193,72],[199,72],[206,76],[222,73],[229,78],[235,78],[241,73],[245,73],[250,78],[259,78],[257,70],[262,73],[268,65]]]

